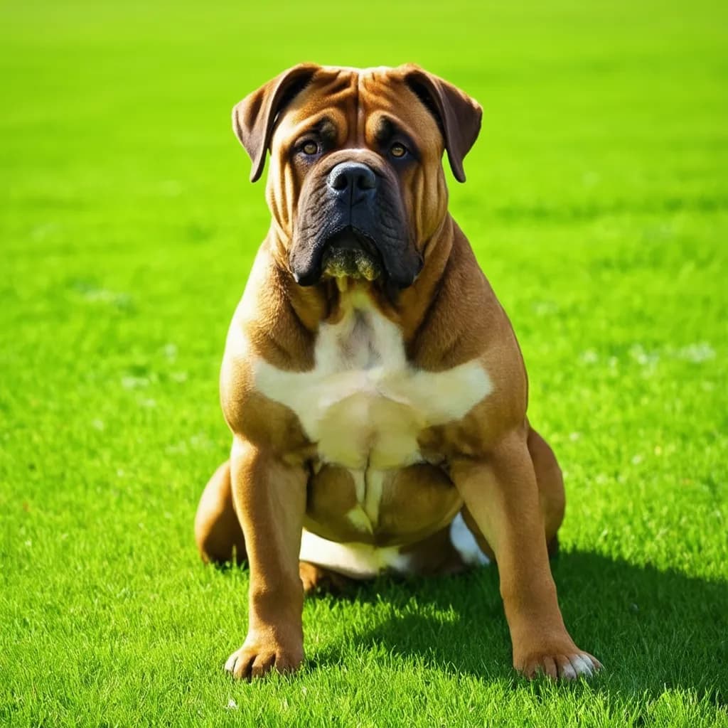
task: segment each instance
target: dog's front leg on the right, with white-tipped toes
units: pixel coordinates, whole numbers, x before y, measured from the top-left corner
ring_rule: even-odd
[[[563,624],[525,432],[510,432],[484,459],[454,459],[451,477],[496,556],[513,666],[527,677],[596,672],[598,660]]]

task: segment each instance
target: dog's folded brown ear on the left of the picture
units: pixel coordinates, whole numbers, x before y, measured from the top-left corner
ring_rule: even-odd
[[[300,92],[320,68],[314,63],[299,63],[276,76],[257,91],[248,94],[232,110],[232,128],[253,161],[250,181],[263,173],[266,151],[278,114]]]

